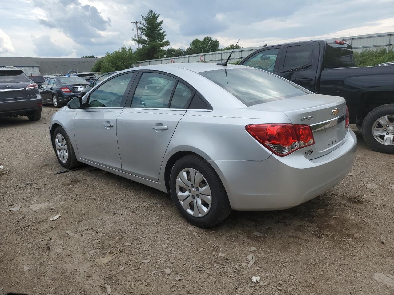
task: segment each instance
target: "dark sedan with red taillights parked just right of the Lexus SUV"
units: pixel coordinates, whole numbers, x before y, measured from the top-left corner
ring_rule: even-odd
[[[40,87],[43,103],[52,103],[54,107],[61,107],[69,102],[71,98],[81,95],[89,83],[81,77],[52,77],[46,79]]]

